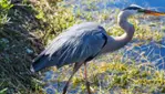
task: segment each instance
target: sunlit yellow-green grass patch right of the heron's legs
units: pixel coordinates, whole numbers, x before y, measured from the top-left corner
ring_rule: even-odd
[[[95,92],[100,85],[102,86],[100,93],[104,91],[122,94],[164,92],[164,71],[158,72],[149,66],[103,62],[89,72],[93,73],[90,73],[92,75],[90,80]],[[94,80],[95,77],[97,80]]]

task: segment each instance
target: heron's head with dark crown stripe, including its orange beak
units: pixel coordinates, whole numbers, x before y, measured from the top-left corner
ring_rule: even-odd
[[[142,8],[136,4],[131,4],[130,7],[123,9],[123,12],[127,13],[127,15],[133,15],[136,13],[143,13],[143,14],[148,14],[148,15],[165,15],[164,12],[152,11],[152,10]]]

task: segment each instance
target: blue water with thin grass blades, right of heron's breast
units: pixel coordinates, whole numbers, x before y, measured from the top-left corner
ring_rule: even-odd
[[[132,46],[132,43],[127,46]],[[161,43],[149,42],[124,52],[123,62],[132,59],[136,63],[148,63],[158,70],[165,70],[165,39]]]

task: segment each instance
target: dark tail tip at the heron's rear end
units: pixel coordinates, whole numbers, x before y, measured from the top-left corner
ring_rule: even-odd
[[[47,55],[38,56],[30,67],[31,72],[38,72],[44,67],[47,67],[47,63],[49,62],[49,58]]]

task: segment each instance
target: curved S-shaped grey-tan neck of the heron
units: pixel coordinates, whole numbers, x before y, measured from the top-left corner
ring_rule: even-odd
[[[121,12],[118,14],[118,24],[125,31],[121,36],[112,38],[109,36],[107,43],[102,53],[111,52],[118,50],[126,45],[133,38],[134,27],[127,22],[127,19],[131,14]]]

